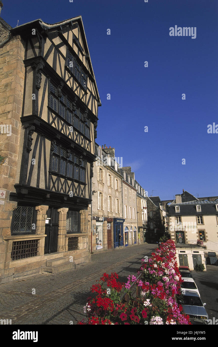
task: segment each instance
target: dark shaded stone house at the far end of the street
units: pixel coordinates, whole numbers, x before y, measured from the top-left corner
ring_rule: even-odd
[[[146,197],[147,201],[147,231],[146,242],[158,242],[159,238],[165,234],[165,223],[167,213],[165,212],[159,196]]]

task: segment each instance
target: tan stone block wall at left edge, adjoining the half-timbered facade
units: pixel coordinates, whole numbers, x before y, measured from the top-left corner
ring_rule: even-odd
[[[1,25],[2,29],[2,25]],[[0,204],[0,278],[3,275],[6,242],[4,236],[10,236],[10,225],[15,202],[9,201],[10,192],[14,192],[15,175],[18,160],[19,138],[21,133],[21,112],[24,88],[24,45],[19,36],[13,37],[0,47],[0,189],[5,198]],[[8,128],[8,134],[5,132]],[[7,136],[9,135],[9,136]]]

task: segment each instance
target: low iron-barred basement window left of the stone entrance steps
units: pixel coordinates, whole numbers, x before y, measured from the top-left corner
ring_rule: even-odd
[[[37,255],[39,240],[14,241],[11,260],[30,258]]]

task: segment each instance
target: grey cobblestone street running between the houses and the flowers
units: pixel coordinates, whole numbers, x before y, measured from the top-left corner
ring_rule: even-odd
[[[140,260],[155,244],[142,244],[92,254],[92,263],[57,275],[37,275],[0,285],[0,319],[11,324],[73,324],[85,317],[90,287],[104,272],[117,272],[120,281],[136,274]],[[35,294],[32,294],[33,288]]]

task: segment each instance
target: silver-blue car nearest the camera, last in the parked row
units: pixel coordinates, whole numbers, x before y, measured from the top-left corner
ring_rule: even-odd
[[[189,315],[193,324],[208,323],[208,314],[204,307],[206,304],[202,303],[201,298],[196,292],[183,290],[178,302],[182,305],[183,312]]]

